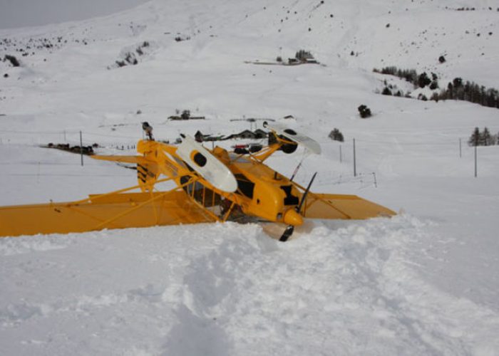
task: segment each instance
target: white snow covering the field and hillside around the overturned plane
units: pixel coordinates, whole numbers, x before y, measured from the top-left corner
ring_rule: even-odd
[[[82,131],[86,145],[130,154],[142,121],[173,141],[240,132],[249,122],[231,119],[257,117],[321,143],[299,182],[317,171],[315,192],[400,213],[309,221],[286,244],[257,224],[0,239],[0,354],[499,355],[499,145],[478,147],[476,178],[466,145],[474,127],[499,132],[499,110],[379,95],[385,79],[406,84],[372,73],[415,68],[442,87],[461,76],[499,88],[498,6],[153,0],[0,30],[0,57],[21,61],[0,62],[0,205],[135,184],[133,171],[88,157],[81,167],[39,145],[78,144]],[[137,66],[115,65],[144,42]],[[245,63],[299,49],[321,65]],[[374,116],[360,119],[361,104]],[[168,121],[176,109],[207,120]],[[290,175],[302,156],[269,164]]]

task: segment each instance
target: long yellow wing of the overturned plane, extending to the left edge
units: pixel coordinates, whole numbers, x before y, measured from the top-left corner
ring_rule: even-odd
[[[215,219],[183,191],[90,196],[83,203],[0,207],[0,236],[196,224]]]

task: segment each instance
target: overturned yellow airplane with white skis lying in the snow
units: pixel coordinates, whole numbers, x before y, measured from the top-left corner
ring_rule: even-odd
[[[269,221],[283,224],[280,241],[309,219],[369,219],[393,216],[390,209],[355,195],[316,194],[264,164],[274,152],[298,145],[320,154],[312,138],[277,124],[269,145],[258,152],[208,150],[182,135],[180,145],[157,142],[152,134],[138,142],[137,156],[92,156],[136,164],[138,185],[63,203],[0,207],[0,236],[67,234],[101,229],[215,221]],[[164,177],[163,177],[164,176]],[[155,184],[175,187],[158,191]],[[140,192],[131,192],[140,189]],[[280,233],[279,233],[280,234]]]

